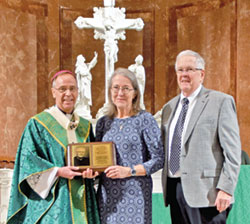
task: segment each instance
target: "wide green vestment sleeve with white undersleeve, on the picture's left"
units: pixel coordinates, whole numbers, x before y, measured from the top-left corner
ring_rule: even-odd
[[[39,195],[44,198],[56,181],[55,167],[64,166],[64,151],[45,128],[31,119],[20,140],[15,166],[14,178],[20,190],[29,197],[28,189],[33,186],[31,189],[38,194],[43,192]]]

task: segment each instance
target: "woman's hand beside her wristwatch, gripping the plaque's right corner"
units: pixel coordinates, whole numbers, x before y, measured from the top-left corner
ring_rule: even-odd
[[[131,176],[131,168],[124,166],[110,166],[104,171],[104,173],[107,177],[112,179],[126,178]]]

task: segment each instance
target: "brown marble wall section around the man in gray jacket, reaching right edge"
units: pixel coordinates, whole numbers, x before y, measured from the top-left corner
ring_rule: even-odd
[[[167,98],[177,93],[174,62],[184,49],[206,61],[204,85],[231,94],[237,105],[242,148],[250,155],[249,12],[247,0],[167,1]]]

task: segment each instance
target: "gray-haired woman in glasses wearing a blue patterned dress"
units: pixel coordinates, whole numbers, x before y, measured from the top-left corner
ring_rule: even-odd
[[[109,109],[96,125],[96,141],[112,141],[117,165],[100,176],[98,202],[103,224],[152,223],[151,174],[163,167],[160,129],[141,110],[134,73],[115,70],[109,81]]]

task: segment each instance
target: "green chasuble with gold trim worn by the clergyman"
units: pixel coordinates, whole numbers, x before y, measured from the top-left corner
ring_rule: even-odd
[[[91,124],[80,118],[78,142],[90,141]],[[13,173],[8,224],[99,224],[92,179],[59,177],[42,199],[26,179],[65,166],[67,132],[48,112],[31,118],[21,137]],[[38,175],[39,176],[39,175]]]

